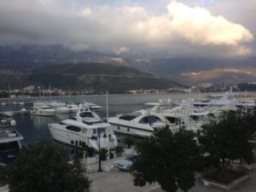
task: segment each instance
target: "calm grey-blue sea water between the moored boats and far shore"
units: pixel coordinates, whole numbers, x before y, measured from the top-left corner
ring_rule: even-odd
[[[256,94],[251,94],[255,96]],[[170,98],[172,100],[185,99],[185,98],[198,98],[198,94],[180,94],[173,93],[167,95],[110,95],[108,96],[108,113],[109,116],[115,116],[117,113],[129,113],[132,111],[139,110],[141,108],[146,108],[144,106],[145,102],[158,102],[159,99]],[[13,99],[12,101],[23,101],[29,102],[25,106],[18,105],[6,105],[0,106],[0,111],[12,111],[20,110],[21,108],[30,109],[32,108],[32,102],[37,101],[36,98],[26,98],[26,99]],[[44,100],[49,100],[49,98],[44,98]],[[94,102],[102,106],[102,110],[98,113],[102,118],[106,117],[106,96],[65,96],[65,97],[52,97],[51,100],[61,101],[61,102],[74,102],[82,103],[84,100],[86,102]],[[1,102],[9,102],[10,100],[0,100]],[[55,117],[42,117],[36,115],[15,115],[16,128],[20,134],[24,137],[23,144],[37,143],[43,138],[51,139],[49,133],[48,124],[52,122],[59,122],[61,119],[67,119],[69,114],[57,114]]]

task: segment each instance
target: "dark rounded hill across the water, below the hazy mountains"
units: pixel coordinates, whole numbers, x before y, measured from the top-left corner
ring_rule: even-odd
[[[3,71],[4,69],[2,69]],[[1,71],[1,70],[0,70]],[[20,72],[20,75],[18,75]],[[22,72],[22,73],[21,73]],[[9,76],[1,76],[0,88],[6,89],[10,77],[12,88],[29,84],[63,90],[95,90],[95,92],[125,93],[127,90],[168,89],[181,86],[168,79],[125,66],[102,63],[62,64],[35,68],[31,71],[9,69]]]

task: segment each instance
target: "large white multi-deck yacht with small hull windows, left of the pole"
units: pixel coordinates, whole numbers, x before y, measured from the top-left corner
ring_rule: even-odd
[[[76,116],[62,120],[61,123],[49,124],[49,131],[56,141],[75,148],[84,148],[87,145],[99,150],[99,146],[117,146],[117,138],[109,124],[103,122],[90,108],[79,109]]]

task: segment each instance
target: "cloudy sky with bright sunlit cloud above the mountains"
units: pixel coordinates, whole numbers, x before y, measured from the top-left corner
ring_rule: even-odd
[[[0,1],[0,44],[141,57],[256,55],[256,0]]]

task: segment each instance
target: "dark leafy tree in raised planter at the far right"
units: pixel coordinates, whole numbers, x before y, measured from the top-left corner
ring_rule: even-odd
[[[202,126],[199,142],[205,152],[217,157],[222,170],[230,166],[231,160],[245,160],[253,163],[253,148],[247,142],[252,134],[252,127],[243,113],[224,112],[218,121]]]

